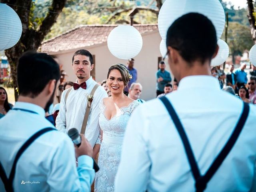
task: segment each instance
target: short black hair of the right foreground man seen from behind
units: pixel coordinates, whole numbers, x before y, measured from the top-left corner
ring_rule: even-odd
[[[166,46],[176,49],[186,62],[211,60],[217,46],[212,22],[199,13],[188,13],[169,27]]]

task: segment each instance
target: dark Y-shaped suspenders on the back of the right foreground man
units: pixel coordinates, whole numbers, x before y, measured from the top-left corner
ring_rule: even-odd
[[[180,119],[178,118],[177,113],[175,112],[171,102],[164,96],[161,97],[160,100],[163,102],[164,106],[168,110],[168,113],[170,114],[170,117],[172,118],[172,121],[174,122],[174,125],[180,135],[180,138],[182,140],[183,146],[186,151],[186,156],[188,158],[188,162],[190,164],[190,168],[192,170],[192,174],[194,177],[195,187],[197,192],[202,192],[206,189],[207,183],[212,178],[214,173],[218,170],[232,147],[234,146],[239,134],[242,131],[242,128],[244,127],[244,124],[246,122],[246,119],[249,114],[249,105],[245,102],[243,102],[243,111],[240,116],[240,119],[238,120],[238,123],[236,124],[236,128],[234,129],[232,135],[228,139],[228,142],[226,142],[226,145],[222,148],[221,152],[218,154],[218,156],[215,158],[214,162],[211,164],[210,168],[207,170],[206,174],[204,176],[201,176],[200,170],[198,168],[198,164],[196,162],[196,159],[194,157],[194,154],[192,152],[192,148],[190,146],[190,143],[188,141],[188,137],[186,136],[186,133],[184,131],[184,128],[180,122]]]

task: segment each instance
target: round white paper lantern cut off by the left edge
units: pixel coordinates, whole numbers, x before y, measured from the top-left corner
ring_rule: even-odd
[[[14,46],[22,33],[22,24],[16,12],[0,3],[0,51]]]

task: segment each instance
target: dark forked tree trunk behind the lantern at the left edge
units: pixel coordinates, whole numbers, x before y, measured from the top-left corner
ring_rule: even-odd
[[[56,22],[66,0],[52,0],[52,3],[50,3],[50,0],[45,1],[46,5],[49,4],[50,6],[47,8],[48,12],[41,17],[35,15],[36,6],[35,2],[32,2],[32,0],[1,0],[1,2],[12,7],[20,17],[22,23],[22,35],[20,40],[12,48],[5,50],[5,54],[10,64],[15,100],[17,100],[18,84],[16,67],[18,59],[23,52],[38,49],[44,40],[44,37],[50,31],[50,28]]]

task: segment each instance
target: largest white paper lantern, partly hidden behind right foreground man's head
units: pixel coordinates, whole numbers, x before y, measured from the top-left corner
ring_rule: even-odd
[[[225,12],[219,0],[166,0],[158,15],[162,39],[166,39],[168,28],[177,18],[190,12],[207,16],[216,29],[217,40],[220,38],[225,25]]]

